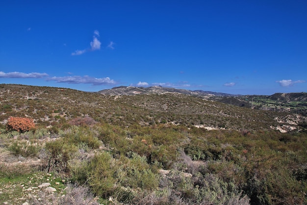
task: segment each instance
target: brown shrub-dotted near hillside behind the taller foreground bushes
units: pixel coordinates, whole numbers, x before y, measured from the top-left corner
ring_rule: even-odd
[[[114,88],[117,92],[122,89],[125,93],[142,91],[134,87]],[[286,132],[298,129],[297,125],[305,120],[299,115],[240,108],[182,94],[189,91],[180,90],[179,94],[172,90],[157,87],[148,88],[147,94],[113,96],[66,88],[0,85],[0,122],[5,124],[9,116],[27,116],[37,124],[48,126],[64,119],[90,116],[125,126],[155,122],[208,129],[273,128]]]

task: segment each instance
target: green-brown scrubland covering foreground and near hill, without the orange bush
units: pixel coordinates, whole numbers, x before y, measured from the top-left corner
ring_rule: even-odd
[[[0,122],[0,203],[307,204],[302,116],[174,93],[0,85]]]

